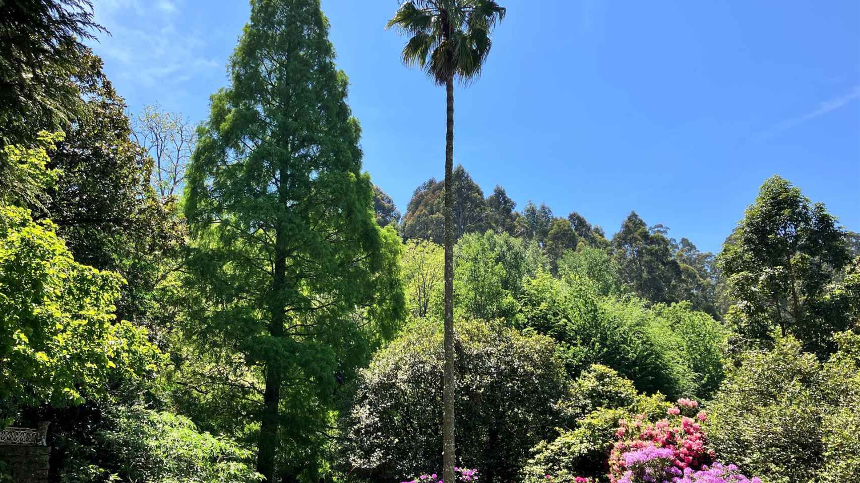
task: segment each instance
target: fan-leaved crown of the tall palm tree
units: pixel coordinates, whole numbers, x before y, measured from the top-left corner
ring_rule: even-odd
[[[490,32],[505,11],[494,0],[407,0],[387,27],[412,36],[403,63],[420,67],[440,86],[452,77],[468,83],[481,75],[493,45]]]

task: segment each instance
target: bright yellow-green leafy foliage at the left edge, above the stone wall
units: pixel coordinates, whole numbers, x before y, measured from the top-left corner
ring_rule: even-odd
[[[115,320],[120,275],[77,263],[55,228],[0,205],[0,398],[9,413],[81,403],[111,374],[143,376],[159,361],[144,329]]]

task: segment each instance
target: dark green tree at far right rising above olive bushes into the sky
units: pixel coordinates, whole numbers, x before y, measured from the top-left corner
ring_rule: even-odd
[[[741,335],[769,341],[776,327],[824,355],[832,352],[833,332],[857,324],[839,297],[828,296],[828,284],[850,260],[836,223],[785,179],[765,181],[720,254],[729,291],[741,302],[728,320]]]

